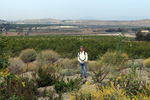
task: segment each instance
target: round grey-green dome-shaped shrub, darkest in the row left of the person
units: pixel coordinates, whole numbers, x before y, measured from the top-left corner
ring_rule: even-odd
[[[30,63],[36,60],[36,51],[34,49],[23,50],[20,54],[20,58],[24,63]]]

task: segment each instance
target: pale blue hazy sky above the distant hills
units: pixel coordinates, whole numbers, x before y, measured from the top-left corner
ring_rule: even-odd
[[[0,0],[0,19],[150,19],[150,0]]]

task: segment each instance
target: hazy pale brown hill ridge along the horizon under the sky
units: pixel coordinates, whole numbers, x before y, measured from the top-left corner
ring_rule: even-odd
[[[2,23],[3,20],[0,20]],[[59,20],[59,19],[29,19],[18,20],[16,24],[75,24],[75,25],[116,25],[116,26],[141,26],[150,27],[150,19],[144,20]]]

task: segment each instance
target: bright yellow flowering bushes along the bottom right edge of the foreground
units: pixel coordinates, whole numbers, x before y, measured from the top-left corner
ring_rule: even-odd
[[[121,80],[120,77],[117,79]],[[134,90],[134,88],[131,89]],[[132,91],[126,90],[121,84],[115,85],[114,82],[110,82],[110,85],[101,87],[86,82],[80,90],[71,92],[69,97],[71,100],[131,100],[131,98],[132,100],[149,100],[150,84],[145,84],[140,91],[135,90],[134,92],[132,93]]]

